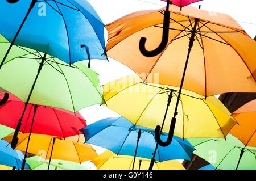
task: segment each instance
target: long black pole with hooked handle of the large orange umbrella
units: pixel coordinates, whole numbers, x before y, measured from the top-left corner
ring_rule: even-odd
[[[165,142],[162,141],[161,138],[160,138],[160,129],[161,129],[161,127],[158,125],[155,128],[155,138],[156,138],[156,141],[158,142],[158,144],[160,146],[168,146],[168,145],[170,145],[171,141],[172,141],[172,137],[174,136],[174,129],[175,129],[175,124],[176,124],[176,115],[178,113],[177,112],[177,108],[179,106],[180,95],[181,95],[181,90],[182,90],[182,87],[183,87],[183,83],[184,83],[184,79],[185,79],[185,74],[186,74],[186,70],[187,70],[187,66],[188,66],[189,56],[190,56],[190,53],[191,53],[191,49],[193,47],[193,43],[195,41],[196,27],[197,27],[198,21],[199,21],[199,19],[195,18],[195,22],[194,22],[195,24],[193,26],[193,30],[192,30],[192,33],[191,33],[191,38],[190,38],[190,41],[189,41],[189,48],[188,48],[187,59],[186,59],[186,62],[185,62],[184,71],[183,71],[183,75],[182,75],[181,82],[180,82],[179,94],[177,96],[177,102],[176,102],[176,106],[175,106],[174,117],[172,117],[170,129],[169,129],[169,133],[168,133],[168,138],[167,138],[167,140]]]

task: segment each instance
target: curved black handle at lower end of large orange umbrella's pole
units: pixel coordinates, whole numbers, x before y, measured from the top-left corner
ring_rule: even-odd
[[[161,127],[159,125],[156,126],[155,128],[155,140],[158,142],[160,146],[168,146],[172,142],[172,137],[174,136],[174,128],[176,124],[176,118],[172,117],[172,122],[170,125],[169,133],[168,133],[168,138],[166,141],[161,140]]]

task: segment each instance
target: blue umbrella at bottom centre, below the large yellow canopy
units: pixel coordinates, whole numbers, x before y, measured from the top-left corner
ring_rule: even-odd
[[[156,148],[154,129],[136,126],[124,117],[107,118],[90,124],[80,130],[89,144],[101,146],[118,155],[152,158],[162,162],[170,159],[191,160],[195,150],[187,141],[174,137],[166,147]],[[167,138],[163,133],[163,137]],[[134,159],[135,160],[135,159]]]

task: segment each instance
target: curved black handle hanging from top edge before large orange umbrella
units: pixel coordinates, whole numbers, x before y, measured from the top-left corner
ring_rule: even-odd
[[[169,11],[169,4],[172,3],[170,0],[167,0],[166,4],[166,11],[164,11],[164,20],[163,20],[163,35],[162,35],[162,41],[158,48],[155,50],[148,51],[145,48],[146,44],[146,37],[141,37],[141,40],[139,40],[139,50],[143,54],[143,56],[146,57],[154,57],[160,54],[164,48],[166,48],[166,45],[168,43],[168,37],[169,37],[169,27],[170,27],[170,11]]]

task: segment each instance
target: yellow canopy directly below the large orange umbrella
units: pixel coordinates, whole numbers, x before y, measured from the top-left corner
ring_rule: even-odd
[[[130,75],[104,85],[103,90],[106,106],[133,124],[152,129],[162,125],[168,94],[174,90],[163,127],[163,132],[168,132],[177,100],[177,87],[142,83],[136,75]],[[191,91],[183,90],[182,93],[175,136],[224,138],[236,124],[227,108],[214,96],[204,99]]]

